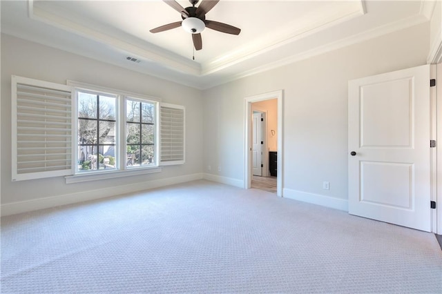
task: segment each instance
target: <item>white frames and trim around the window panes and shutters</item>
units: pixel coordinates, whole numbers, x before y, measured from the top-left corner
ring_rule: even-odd
[[[184,164],[185,161],[185,106],[175,105],[175,104],[164,104],[162,103],[162,99],[157,97],[151,97],[146,95],[140,95],[138,93],[134,92],[128,92],[124,90],[117,90],[113,88],[107,88],[103,86],[97,86],[93,84],[86,84],[78,81],[71,81],[67,80],[66,84],[57,84],[52,83],[49,81],[41,81],[38,79],[29,79],[26,77],[18,77],[15,75],[11,76],[12,79],[12,181],[19,181],[19,180],[27,180],[27,179],[43,179],[45,177],[59,177],[64,176],[66,179],[66,184],[71,183],[79,183],[79,182],[93,182],[101,179],[114,179],[119,177],[128,177],[128,176],[134,176],[134,175],[146,175],[150,173],[160,173],[162,171],[162,166],[167,165],[180,165]],[[19,121],[17,120],[17,82],[21,84],[28,84],[30,86],[44,86],[44,88],[48,88],[48,90],[61,90],[64,92],[68,92],[68,108],[70,108],[70,115],[68,117],[68,121],[70,121],[70,135],[62,135],[63,137],[68,138],[67,142],[70,144],[66,150],[69,150],[66,153],[66,156],[69,156],[69,159],[67,162],[70,162],[69,168],[63,169],[63,170],[54,170],[54,171],[43,171],[38,173],[32,173],[32,174],[22,174],[17,177],[17,124]],[[79,117],[78,117],[78,92],[86,92],[93,95],[104,95],[104,96],[111,96],[115,97],[116,104],[115,104],[115,120],[116,120],[116,126],[115,126],[115,168],[112,169],[97,169],[97,170],[78,170],[78,160],[79,160],[79,152],[78,152],[78,133],[79,133]],[[16,97],[16,98],[15,98]],[[155,104],[155,164],[150,164],[146,166],[135,166],[131,168],[126,167],[126,161],[122,160],[126,158],[126,101],[127,99],[135,100],[135,101],[141,101],[146,102],[150,104]],[[65,99],[66,100],[66,99]],[[68,101],[67,100],[67,101]],[[51,104],[53,105],[53,103]],[[167,123],[167,125],[171,128],[175,128],[173,132],[176,133],[176,129],[180,131],[178,134],[179,137],[177,137],[177,141],[179,142],[178,145],[175,145],[175,150],[178,150],[178,153],[175,153],[179,155],[179,158],[177,159],[169,159],[166,161],[162,161],[162,137],[165,136],[165,138],[170,139],[169,133],[164,133],[164,136],[162,135],[162,130],[160,129],[162,122],[162,113],[160,109],[162,107],[167,108],[173,108],[175,110],[181,111],[180,115],[178,115],[179,119],[177,121],[181,122],[179,128],[177,128],[177,124],[175,121],[175,127],[173,126],[173,123]],[[41,117],[42,115],[38,115]],[[51,118],[53,116],[51,115]],[[176,118],[176,117],[175,117]],[[57,118],[58,119],[58,118]],[[172,117],[172,119],[174,119]],[[66,121],[67,122],[67,121]],[[54,122],[50,121],[48,125],[53,125]],[[49,127],[48,127],[49,128]],[[50,130],[52,130],[52,126],[50,126]],[[58,136],[58,135],[57,135]],[[169,136],[169,137],[168,137]],[[39,135],[38,137],[41,137]],[[55,137],[53,134],[49,134],[49,137]],[[59,137],[59,136],[58,136]],[[175,139],[175,138],[172,138]],[[33,139],[32,139],[33,140]],[[70,140],[70,141],[68,141]],[[28,140],[29,141],[29,140]],[[24,143],[29,143],[28,141],[25,141]],[[23,143],[23,142],[22,142]],[[23,144],[24,144],[23,143]],[[30,143],[32,143],[30,141]],[[167,143],[167,142],[166,142]],[[97,142],[97,145],[99,142]],[[168,143],[169,144],[169,143]],[[167,148],[173,148],[173,146],[167,146]],[[32,147],[34,148],[34,147]],[[166,149],[164,149],[166,150]],[[169,150],[168,150],[169,152]],[[40,154],[37,154],[40,156]],[[57,153],[59,155],[59,153]],[[58,159],[57,159],[58,160]],[[51,159],[51,161],[54,161]],[[45,161],[46,162],[46,161]],[[52,166],[50,166],[52,168]],[[58,168],[58,166],[57,166]]]

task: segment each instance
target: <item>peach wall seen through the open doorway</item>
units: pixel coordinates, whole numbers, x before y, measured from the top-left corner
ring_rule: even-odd
[[[267,112],[267,148],[270,151],[278,150],[278,99],[254,102],[251,109]]]

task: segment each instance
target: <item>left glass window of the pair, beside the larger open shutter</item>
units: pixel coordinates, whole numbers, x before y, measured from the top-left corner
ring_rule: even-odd
[[[115,168],[117,97],[77,92],[78,170]]]

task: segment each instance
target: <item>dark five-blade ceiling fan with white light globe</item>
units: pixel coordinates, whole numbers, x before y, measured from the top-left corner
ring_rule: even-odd
[[[165,30],[171,30],[173,28],[182,26],[186,32],[190,32],[192,34],[193,46],[195,46],[195,50],[202,49],[201,32],[204,30],[204,28],[211,28],[212,30],[218,30],[218,32],[225,32],[231,35],[239,35],[241,32],[239,28],[230,26],[227,23],[209,21],[206,19],[206,13],[209,12],[220,0],[204,0],[198,7],[195,7],[195,5],[199,0],[189,0],[192,6],[186,8],[183,8],[175,0],[163,1],[171,6],[171,8],[177,10],[177,12],[180,12],[182,21],[153,28],[150,30],[150,32],[164,32]]]

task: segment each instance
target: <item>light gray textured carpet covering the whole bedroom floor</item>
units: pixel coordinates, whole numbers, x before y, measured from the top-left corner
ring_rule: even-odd
[[[197,181],[1,219],[2,293],[442,293],[434,234]]]

